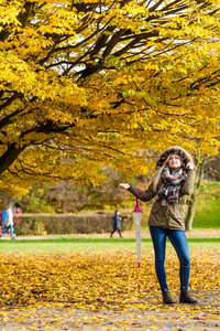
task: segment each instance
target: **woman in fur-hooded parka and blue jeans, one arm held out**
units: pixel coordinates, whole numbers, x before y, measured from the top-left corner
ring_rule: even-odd
[[[155,269],[161,286],[163,302],[174,303],[168,291],[165,274],[166,237],[173,244],[180,263],[180,303],[196,303],[188,293],[190,256],[185,234],[185,204],[187,195],[194,192],[195,166],[191,157],[182,147],[174,146],[162,153],[157,172],[145,192],[138,188],[120,183],[119,188],[130,191],[142,201],[155,197],[148,218],[150,233],[154,245]]]

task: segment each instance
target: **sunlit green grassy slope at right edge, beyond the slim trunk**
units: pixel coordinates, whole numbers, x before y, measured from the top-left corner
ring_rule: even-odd
[[[220,182],[202,182],[193,227],[220,228]]]

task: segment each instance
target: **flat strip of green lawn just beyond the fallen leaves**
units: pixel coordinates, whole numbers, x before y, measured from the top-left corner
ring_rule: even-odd
[[[188,238],[189,248],[220,249],[220,238]],[[167,243],[167,248],[172,247]],[[142,238],[142,249],[150,250],[153,248],[151,238]],[[107,250],[123,249],[135,250],[135,238],[57,238],[57,239],[15,239],[1,241],[0,252],[88,252],[88,250]],[[173,249],[173,248],[172,248]]]

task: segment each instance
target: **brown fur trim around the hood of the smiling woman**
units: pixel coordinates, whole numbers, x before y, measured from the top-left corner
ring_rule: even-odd
[[[186,164],[188,162],[194,162],[191,156],[180,146],[172,146],[167,148],[160,157],[158,161],[156,162],[156,169],[158,170],[165,160],[168,158],[169,154],[177,154],[182,158],[183,160],[183,166],[186,168]]]

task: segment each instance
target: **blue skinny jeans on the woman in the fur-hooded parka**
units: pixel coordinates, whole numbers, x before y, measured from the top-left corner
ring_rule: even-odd
[[[154,245],[156,276],[162,291],[168,290],[164,266],[166,237],[169,238],[172,245],[174,246],[180,263],[180,290],[184,292],[187,291],[190,273],[190,256],[185,231],[150,226],[150,232]]]

